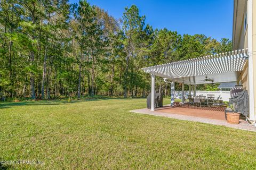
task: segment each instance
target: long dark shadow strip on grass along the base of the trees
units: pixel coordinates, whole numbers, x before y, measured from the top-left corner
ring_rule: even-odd
[[[90,101],[100,101],[100,100],[136,100],[136,99],[145,99],[145,98],[83,98],[80,100],[39,100],[39,101],[20,101],[20,102],[1,102],[0,109],[10,108],[12,106],[28,106],[28,105],[61,105],[61,104],[72,104],[72,103],[80,103],[80,102],[90,102]]]

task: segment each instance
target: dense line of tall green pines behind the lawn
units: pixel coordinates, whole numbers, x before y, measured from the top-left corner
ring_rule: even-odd
[[[1,97],[144,97],[142,67],[231,50],[229,39],[153,29],[145,19],[135,5],[115,19],[86,1],[0,1]],[[170,92],[160,78],[156,87]]]

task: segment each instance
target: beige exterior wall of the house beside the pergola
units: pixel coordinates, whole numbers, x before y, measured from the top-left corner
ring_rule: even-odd
[[[242,84],[243,88],[246,89],[249,94],[253,94],[254,97],[254,113],[256,111],[256,1],[255,0],[249,0],[252,3],[252,18],[248,18],[248,13],[250,12],[249,10],[249,1],[245,0],[245,4],[241,3],[241,1],[244,0],[234,0],[234,19],[233,19],[233,50],[237,50],[237,49],[243,49],[243,48],[252,48],[249,49],[251,50],[251,52],[249,53],[250,57],[252,57],[252,60],[250,63],[251,66],[253,67],[253,69],[251,71],[249,71],[249,61],[246,62],[244,70],[239,73],[238,75],[238,80],[237,80],[237,84]],[[240,5],[240,6],[239,6]],[[244,5],[244,6],[242,6]],[[241,8],[241,6],[243,7],[243,9]],[[240,8],[239,8],[240,7]],[[239,12],[238,12],[239,10]],[[243,10],[243,12],[241,12]],[[238,14],[237,14],[238,13]],[[243,13],[243,14],[242,14]],[[252,22],[252,29],[249,29],[248,24],[246,29],[244,29],[244,21],[245,21],[245,16],[247,14],[247,23]],[[235,28],[237,27],[236,22],[241,22],[242,21],[242,27],[240,28]],[[235,30],[235,32],[234,32]],[[249,32],[249,31],[252,32]],[[237,34],[239,34],[239,36],[237,36]],[[237,37],[239,38],[237,38]],[[249,43],[251,43],[251,46],[249,45]],[[250,73],[253,72],[253,76],[250,77]],[[252,73],[251,73],[252,74]],[[249,79],[250,77],[250,79]],[[253,89],[253,92],[251,93],[250,91],[250,81],[253,81],[253,88],[251,88],[251,90]],[[255,117],[254,117],[255,120]]]

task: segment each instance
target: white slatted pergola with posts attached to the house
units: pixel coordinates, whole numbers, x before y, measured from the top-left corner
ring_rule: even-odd
[[[248,57],[247,49],[242,49],[143,68],[143,71],[151,74],[151,111],[154,111],[155,76],[172,82],[171,105],[173,105],[174,82],[182,83],[182,95],[184,95],[184,84],[188,84],[190,90],[191,85],[194,85],[195,95],[196,84],[237,81]],[[204,81],[206,75],[213,82]]]

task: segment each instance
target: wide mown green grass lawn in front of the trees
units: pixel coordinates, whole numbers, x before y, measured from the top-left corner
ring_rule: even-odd
[[[165,99],[164,103],[169,103]],[[256,133],[129,112],[146,99],[0,103],[0,169],[252,169]]]

